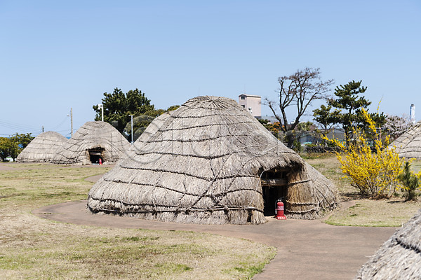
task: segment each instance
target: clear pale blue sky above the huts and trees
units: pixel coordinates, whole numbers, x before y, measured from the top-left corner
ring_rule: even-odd
[[[306,66],[334,87],[363,80],[370,111],[415,104],[420,120],[421,1],[0,0],[0,136],[67,136],[70,108],[76,130],[115,87],[157,109],[275,98],[278,77]]]

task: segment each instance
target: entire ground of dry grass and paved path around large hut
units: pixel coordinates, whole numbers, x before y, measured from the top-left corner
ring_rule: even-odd
[[[338,186],[342,209],[323,220],[269,219],[265,225],[181,225],[92,215],[83,200],[92,181],[110,167],[0,164],[0,275],[352,279],[421,203],[401,196],[361,199],[341,179],[334,157],[307,161]],[[415,169],[420,166],[413,162]],[[72,202],[62,204],[66,201]]]

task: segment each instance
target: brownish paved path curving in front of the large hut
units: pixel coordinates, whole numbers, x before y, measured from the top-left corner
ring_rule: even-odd
[[[42,218],[77,225],[150,230],[192,230],[239,237],[278,248],[274,260],[253,279],[353,279],[370,255],[396,228],[339,227],[320,220],[277,221],[264,225],[192,225],[91,214],[86,201],[66,202],[32,211]]]

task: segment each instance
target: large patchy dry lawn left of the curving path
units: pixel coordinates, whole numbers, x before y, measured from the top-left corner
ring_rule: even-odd
[[[86,199],[89,176],[110,167],[8,165],[0,171],[0,278],[250,279],[276,249],[196,232],[95,228],[30,211]]]

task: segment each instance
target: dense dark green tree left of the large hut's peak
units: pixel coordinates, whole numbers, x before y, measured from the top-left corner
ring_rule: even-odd
[[[137,88],[123,93],[119,88],[115,88],[113,93],[104,92],[102,98],[104,106],[104,121],[110,123],[116,130],[123,134],[124,127],[131,121],[131,115],[141,116],[154,114],[154,105]],[[93,110],[97,113],[95,120],[101,120],[101,109],[94,105]]]

